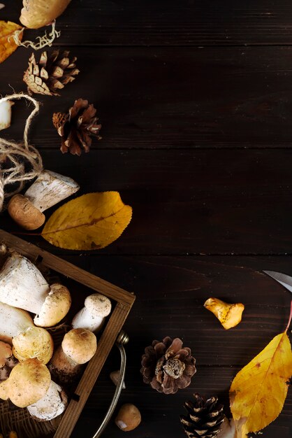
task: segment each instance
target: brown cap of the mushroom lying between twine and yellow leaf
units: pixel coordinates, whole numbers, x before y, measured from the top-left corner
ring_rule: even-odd
[[[8,213],[24,229],[37,229],[45,222],[45,215],[23,195],[14,195],[10,199]]]

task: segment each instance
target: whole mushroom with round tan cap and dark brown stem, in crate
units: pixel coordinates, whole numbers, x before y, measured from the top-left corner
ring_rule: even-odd
[[[73,381],[96,353],[96,336],[86,329],[77,328],[66,333],[61,346],[54,351],[49,364],[50,372],[57,381]]]

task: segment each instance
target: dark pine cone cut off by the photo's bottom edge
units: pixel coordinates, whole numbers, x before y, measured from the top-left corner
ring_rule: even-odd
[[[194,402],[184,403],[187,416],[180,416],[184,432],[189,438],[216,438],[225,418],[223,405],[217,406],[217,397],[211,397],[207,401],[198,393],[194,397]]]

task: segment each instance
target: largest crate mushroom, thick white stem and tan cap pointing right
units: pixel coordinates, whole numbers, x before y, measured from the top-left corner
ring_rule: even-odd
[[[71,306],[64,285],[49,285],[37,267],[14,253],[0,271],[0,302],[36,313],[34,323],[50,327],[66,316]]]

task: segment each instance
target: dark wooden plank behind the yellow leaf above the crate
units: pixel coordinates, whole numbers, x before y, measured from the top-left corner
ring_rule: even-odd
[[[291,253],[292,150],[92,150],[80,158],[57,150],[43,158],[47,169],[75,178],[80,195],[119,190],[133,207],[122,236],[96,253]],[[23,232],[7,212],[1,222]]]

